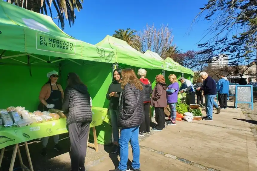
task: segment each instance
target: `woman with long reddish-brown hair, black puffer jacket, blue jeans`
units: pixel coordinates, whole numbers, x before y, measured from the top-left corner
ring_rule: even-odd
[[[138,142],[139,126],[143,122],[143,86],[134,70],[125,69],[121,72],[122,92],[119,99],[118,125],[120,132],[120,162],[114,171],[140,171],[140,148]],[[132,147],[132,165],[127,169],[129,142]]]

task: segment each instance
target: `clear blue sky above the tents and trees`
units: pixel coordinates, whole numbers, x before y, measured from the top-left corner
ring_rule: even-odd
[[[206,24],[203,17],[192,28],[191,24],[200,12],[199,8],[206,2],[207,0],[85,0],[83,9],[76,11],[74,26],[69,27],[66,22],[64,31],[79,40],[96,44],[119,28],[143,30],[147,23],[154,23],[156,27],[168,24],[173,30],[173,44],[179,49],[200,50],[196,44],[203,38],[209,24]],[[57,24],[57,20],[54,21]]]

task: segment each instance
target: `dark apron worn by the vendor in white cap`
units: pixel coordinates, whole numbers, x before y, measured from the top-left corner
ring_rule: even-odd
[[[46,100],[46,102],[48,104],[54,104],[54,109],[62,110],[62,93],[59,87],[57,86],[57,84],[56,86],[58,90],[53,90],[51,83],[50,83],[50,86],[51,86],[51,94],[50,94],[50,97]],[[48,111],[48,108],[45,105],[43,105],[42,107],[38,107],[38,110],[43,112],[43,111]]]

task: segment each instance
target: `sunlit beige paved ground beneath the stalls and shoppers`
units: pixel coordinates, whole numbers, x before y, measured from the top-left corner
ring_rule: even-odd
[[[229,102],[229,105],[233,106],[233,103]],[[167,126],[163,132],[140,137],[141,170],[256,171],[254,122],[247,119],[241,109],[235,108],[222,110],[213,118],[214,121],[177,121],[176,126]],[[61,138],[67,136],[62,135]],[[60,144],[63,151],[57,153],[49,149],[47,157],[40,156],[41,142],[29,144],[35,171],[69,171],[69,139],[62,140]],[[53,147],[51,139],[49,146]],[[23,147],[21,149],[24,150]],[[7,148],[1,171],[8,170],[11,150],[11,147]],[[108,146],[99,145],[99,151],[88,149],[87,171],[114,169],[119,157],[109,155]],[[131,150],[129,154],[128,164],[132,160]],[[19,167],[18,161],[15,167]]]

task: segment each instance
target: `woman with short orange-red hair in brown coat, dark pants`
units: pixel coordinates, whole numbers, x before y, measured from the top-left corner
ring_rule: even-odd
[[[166,83],[163,75],[157,75],[155,77],[156,85],[153,89],[151,106],[154,107],[155,120],[157,121],[157,127],[152,128],[153,131],[162,131],[165,128],[165,114],[164,107],[167,106],[166,97]]]

